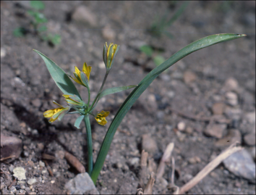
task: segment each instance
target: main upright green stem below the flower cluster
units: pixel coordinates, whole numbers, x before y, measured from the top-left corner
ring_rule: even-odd
[[[91,141],[91,124],[89,119],[89,114],[84,117],[84,123],[86,126],[86,138],[87,138],[87,149],[88,149],[88,173],[91,175],[93,171],[93,147]]]

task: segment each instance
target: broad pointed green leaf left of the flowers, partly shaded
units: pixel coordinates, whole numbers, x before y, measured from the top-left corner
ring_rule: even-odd
[[[71,79],[68,77],[68,75],[64,72],[64,70],[61,69],[58,65],[56,65],[55,62],[53,62],[50,58],[42,54],[41,52],[34,50],[37,52],[45,61],[46,67],[50,72],[50,75],[52,76],[53,80],[55,81],[56,85],[60,88],[60,90],[65,95],[77,95],[81,100],[82,97],[78,93],[78,90],[76,89],[74,83],[71,81]]]

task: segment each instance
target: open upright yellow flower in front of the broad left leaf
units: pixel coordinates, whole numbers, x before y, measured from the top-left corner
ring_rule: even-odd
[[[86,77],[81,78],[81,71],[78,69],[78,67],[75,66],[75,78],[71,77],[75,82],[79,83],[80,85],[83,85],[85,87],[88,86],[88,82],[90,79],[90,73],[91,73],[91,66],[87,66],[86,62],[83,64],[83,73],[86,75]]]

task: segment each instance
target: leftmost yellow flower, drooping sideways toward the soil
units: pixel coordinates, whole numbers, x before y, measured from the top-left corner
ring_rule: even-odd
[[[65,108],[65,107],[61,106],[60,104],[58,104],[55,101],[53,101],[53,103],[60,106],[60,107],[59,108],[54,108],[54,109],[51,109],[51,110],[46,110],[44,112],[44,117],[46,117],[46,118],[52,117],[52,118],[50,118],[49,122],[53,122],[57,119],[61,120],[61,118],[63,118],[63,116],[65,114],[67,114],[69,109],[70,109],[69,106]]]

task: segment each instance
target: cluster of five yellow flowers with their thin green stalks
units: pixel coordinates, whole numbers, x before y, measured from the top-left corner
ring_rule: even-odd
[[[104,45],[103,48],[103,61],[106,66],[106,75],[108,75],[109,70],[111,69],[114,59],[116,58],[117,51],[119,49],[119,45],[110,43],[109,47],[107,43]],[[83,64],[83,69],[80,71],[78,67],[75,66],[75,72],[74,72],[74,77],[71,77],[76,83],[79,85],[82,85],[88,89],[88,94],[89,94],[89,101],[88,104],[85,104],[83,100],[78,97],[77,95],[69,95],[65,94],[63,95],[65,98],[65,101],[67,102],[68,106],[61,106],[57,102],[53,102],[54,104],[60,106],[59,108],[51,109],[51,110],[46,110],[44,112],[44,117],[50,118],[49,122],[53,122],[55,120],[61,120],[63,116],[67,113],[79,113],[81,116],[78,117],[76,120],[75,126],[80,125],[80,122],[84,118],[86,114],[91,114],[94,116],[95,120],[98,122],[100,125],[106,125],[108,122],[106,120],[106,117],[109,115],[109,111],[101,111],[98,113],[96,116],[91,113],[91,111],[94,109],[95,105],[98,102],[99,95],[101,94],[101,90],[103,88],[103,85],[105,83],[105,80],[103,81],[102,87],[99,90],[99,93],[97,97],[95,98],[93,104],[90,106],[90,89],[89,89],[89,80],[90,80],[90,73],[91,73],[91,66],[87,66],[87,63],[84,62]],[[71,109],[74,109],[74,112],[69,112]]]

